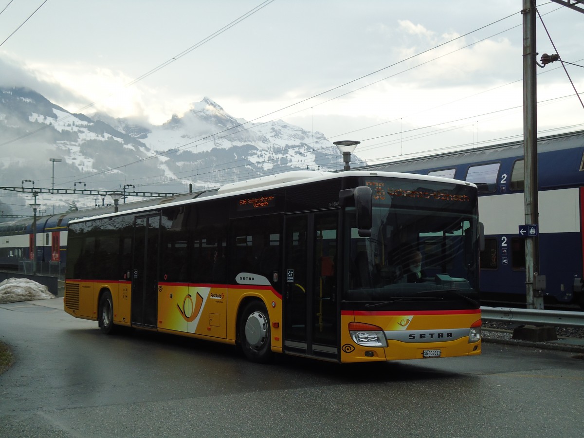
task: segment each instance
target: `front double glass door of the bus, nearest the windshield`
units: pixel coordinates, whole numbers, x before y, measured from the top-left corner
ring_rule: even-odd
[[[338,213],[288,215],[284,229],[284,349],[336,359]]]

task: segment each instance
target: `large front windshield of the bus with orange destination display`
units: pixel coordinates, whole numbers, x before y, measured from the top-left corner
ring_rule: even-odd
[[[370,237],[360,237],[346,209],[343,302],[363,310],[479,308],[476,206],[460,185],[374,187]]]

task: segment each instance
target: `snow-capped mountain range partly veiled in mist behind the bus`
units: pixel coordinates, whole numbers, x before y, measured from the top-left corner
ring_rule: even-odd
[[[68,112],[30,89],[0,88],[0,186],[182,193],[294,169],[336,170],[324,134],[249,123],[204,98],[161,126]],[[52,179],[49,158],[61,158]],[[353,157],[353,164],[360,160]],[[128,190],[133,190],[132,188]],[[0,199],[5,193],[0,193]],[[53,195],[51,202],[70,197]],[[29,194],[30,197],[30,194]],[[93,206],[93,201],[86,199]]]

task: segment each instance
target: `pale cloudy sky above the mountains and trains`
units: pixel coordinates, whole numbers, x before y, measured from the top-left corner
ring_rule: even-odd
[[[71,112],[154,124],[207,96],[234,117],[360,140],[357,154],[383,162],[522,137],[521,7],[3,0],[0,85],[29,86]],[[584,92],[584,14],[543,1],[538,11]],[[556,53],[551,41],[538,19],[540,55]],[[561,65],[537,72],[540,135],[582,129],[584,109]]]

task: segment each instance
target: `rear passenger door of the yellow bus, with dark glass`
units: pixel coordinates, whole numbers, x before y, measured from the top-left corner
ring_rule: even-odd
[[[135,218],[132,263],[132,325],[155,328],[158,297],[160,215]]]

